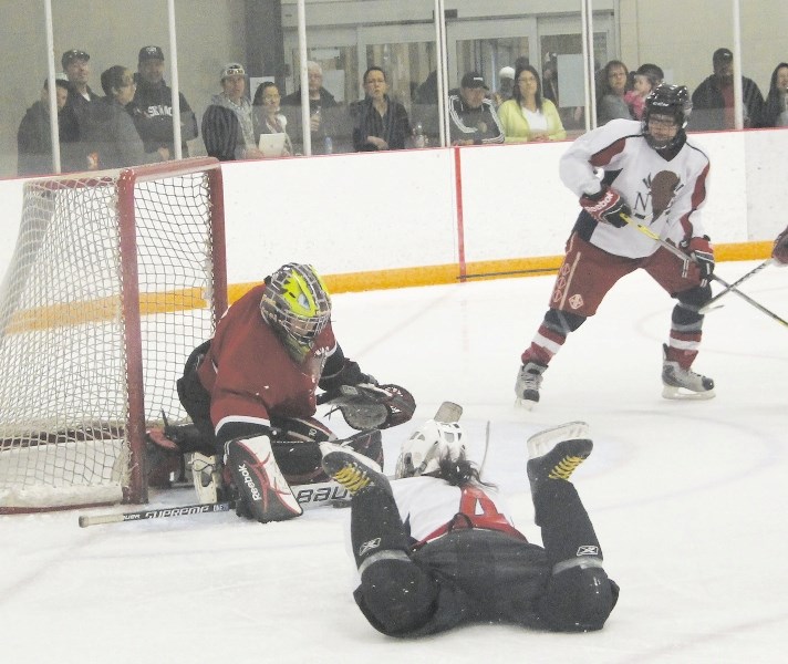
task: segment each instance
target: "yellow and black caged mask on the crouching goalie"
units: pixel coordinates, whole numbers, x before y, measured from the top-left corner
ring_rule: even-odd
[[[260,313],[301,361],[331,320],[331,298],[312,266],[287,263],[266,279]]]

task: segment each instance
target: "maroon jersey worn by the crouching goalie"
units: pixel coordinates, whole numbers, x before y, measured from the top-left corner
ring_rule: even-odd
[[[260,315],[258,286],[230,307],[219,321],[198,375],[210,394],[216,430],[228,422],[270,426],[271,415],[311,417],[315,390],[336,341],[329,323],[302,363],[294,362]]]

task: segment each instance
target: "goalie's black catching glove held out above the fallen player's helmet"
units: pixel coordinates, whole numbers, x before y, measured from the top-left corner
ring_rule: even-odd
[[[404,424],[416,409],[413,395],[400,385],[341,385],[335,393],[318,398],[339,408],[349,426],[357,430]]]

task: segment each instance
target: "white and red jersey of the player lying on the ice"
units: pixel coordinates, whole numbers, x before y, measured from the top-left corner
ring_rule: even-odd
[[[498,530],[525,539],[515,529],[506,501],[490,487],[470,484],[460,488],[431,476],[407,477],[391,485],[400,517],[416,546],[456,528]]]

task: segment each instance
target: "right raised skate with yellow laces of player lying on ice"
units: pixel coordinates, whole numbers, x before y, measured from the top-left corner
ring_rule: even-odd
[[[569,422],[528,438],[528,479],[531,491],[550,479],[569,480],[574,469],[591,454],[589,425]]]

